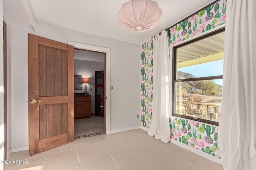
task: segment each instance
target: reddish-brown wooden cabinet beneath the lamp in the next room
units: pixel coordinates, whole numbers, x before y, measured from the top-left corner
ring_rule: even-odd
[[[91,96],[75,95],[75,118],[91,117]]]

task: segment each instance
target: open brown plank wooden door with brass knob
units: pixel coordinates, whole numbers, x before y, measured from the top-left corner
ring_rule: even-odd
[[[74,141],[73,46],[28,34],[28,121],[30,156]]]

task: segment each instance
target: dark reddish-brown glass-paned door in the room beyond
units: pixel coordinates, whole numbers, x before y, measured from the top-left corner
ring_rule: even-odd
[[[95,115],[104,116],[105,86],[104,71],[95,72]]]

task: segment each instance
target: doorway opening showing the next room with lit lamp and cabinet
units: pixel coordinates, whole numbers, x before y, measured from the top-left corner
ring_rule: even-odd
[[[106,53],[74,49],[75,139],[105,133],[105,56]]]

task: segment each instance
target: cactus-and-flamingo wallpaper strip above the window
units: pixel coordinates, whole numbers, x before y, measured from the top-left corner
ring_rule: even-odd
[[[167,30],[169,47],[225,23],[226,0],[220,0]]]

